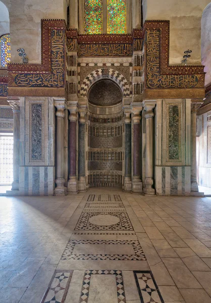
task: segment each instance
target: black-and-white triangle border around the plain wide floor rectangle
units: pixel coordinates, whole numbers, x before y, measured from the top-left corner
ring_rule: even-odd
[[[123,244],[132,245],[135,251],[134,255],[73,255],[73,250],[76,244]],[[139,241],[133,240],[69,240],[61,260],[133,260],[146,261],[143,249]]]

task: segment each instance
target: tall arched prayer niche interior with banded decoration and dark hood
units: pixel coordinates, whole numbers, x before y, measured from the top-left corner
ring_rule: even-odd
[[[122,187],[123,123],[121,87],[100,79],[88,94],[88,183],[90,187]]]

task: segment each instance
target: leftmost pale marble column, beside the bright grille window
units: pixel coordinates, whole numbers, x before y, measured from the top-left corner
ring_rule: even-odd
[[[12,190],[19,190],[19,158],[20,158],[20,99],[8,97],[13,109],[13,183]]]

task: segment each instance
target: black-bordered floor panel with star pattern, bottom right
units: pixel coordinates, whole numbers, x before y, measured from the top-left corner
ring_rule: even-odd
[[[164,303],[151,271],[134,271],[141,303]]]

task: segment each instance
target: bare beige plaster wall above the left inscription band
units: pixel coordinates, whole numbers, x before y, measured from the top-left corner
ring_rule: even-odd
[[[41,19],[67,19],[67,0],[3,0],[9,10],[11,62],[22,63],[23,47],[29,63],[41,63]]]

